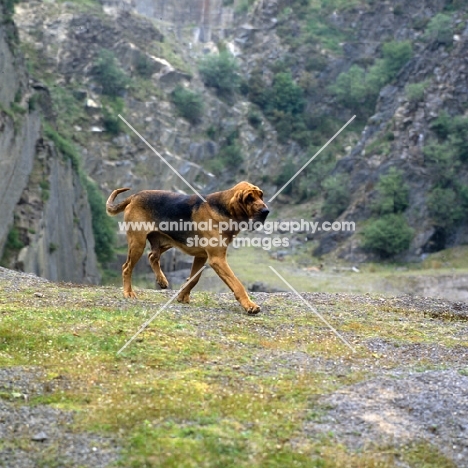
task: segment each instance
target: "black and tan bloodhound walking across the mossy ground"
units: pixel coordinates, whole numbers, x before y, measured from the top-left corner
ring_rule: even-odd
[[[148,240],[151,245],[149,262],[161,288],[167,288],[169,283],[159,259],[162,253],[177,247],[195,257],[190,278],[194,278],[208,260],[249,314],[260,311],[227,264],[226,253],[228,245],[241,230],[239,223],[265,221],[269,210],[263,202],[262,190],[248,182],[240,182],[229,190],[204,196],[206,201],[198,195],[143,190],[114,204],[117,195],[127,190],[130,189],[114,190],[106,204],[110,216],[124,212],[128,242],[127,261],[122,266],[125,297],[136,297],[132,289],[132,271]],[[190,302],[190,291],[199,278],[197,275],[180,291],[179,302]]]

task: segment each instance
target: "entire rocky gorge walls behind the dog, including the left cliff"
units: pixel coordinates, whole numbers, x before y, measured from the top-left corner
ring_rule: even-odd
[[[94,251],[107,238],[92,234],[99,213],[83,185],[95,184],[104,198],[120,186],[188,190],[134,130],[197,190],[247,179],[273,194],[353,114],[356,122],[275,200],[277,215],[300,203],[308,217],[356,222],[356,233],[313,239],[314,255],[353,263],[419,261],[464,244],[464,156],[431,155],[450,153],[463,133],[466,14],[456,0],[16,3],[2,24],[4,264],[97,282],[106,256]],[[410,53],[388,52],[388,44]],[[126,77],[115,96],[97,79],[103,50]],[[237,61],[234,92],[207,85],[200,71],[220,51]],[[368,79],[379,67],[391,73],[360,95],[352,73]],[[181,88],[203,102],[197,121],[175,103]],[[458,130],[440,131],[445,115],[459,119]],[[74,146],[79,164],[57,135]],[[448,167],[455,175],[441,180]],[[405,208],[378,213],[379,183],[390,168],[407,193]],[[446,208],[454,204],[460,210]],[[364,228],[389,214],[408,239],[390,253],[364,245]]]

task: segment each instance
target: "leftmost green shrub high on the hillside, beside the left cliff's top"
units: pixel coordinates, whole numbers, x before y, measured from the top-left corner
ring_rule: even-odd
[[[125,91],[130,80],[118,66],[115,55],[110,50],[102,49],[92,71],[96,81],[102,86],[102,93],[119,96]]]

